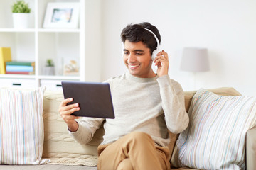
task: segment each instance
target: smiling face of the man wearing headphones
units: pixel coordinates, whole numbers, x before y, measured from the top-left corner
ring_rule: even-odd
[[[124,42],[124,64],[129,69],[129,73],[134,77],[151,78],[155,77],[151,69],[152,60],[150,49],[140,42]]]

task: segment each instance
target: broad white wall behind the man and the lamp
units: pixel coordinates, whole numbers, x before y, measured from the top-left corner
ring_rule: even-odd
[[[128,23],[159,28],[169,52],[169,75],[194,89],[193,74],[179,70],[183,47],[206,47],[210,71],[196,74],[196,89],[233,86],[256,96],[256,1],[102,0],[102,80],[126,72],[120,33]]]

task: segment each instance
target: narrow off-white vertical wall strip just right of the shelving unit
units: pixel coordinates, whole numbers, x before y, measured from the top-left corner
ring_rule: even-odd
[[[87,81],[102,81],[102,3],[85,1],[85,77]]]

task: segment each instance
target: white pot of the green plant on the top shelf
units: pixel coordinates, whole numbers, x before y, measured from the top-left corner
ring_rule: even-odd
[[[28,28],[29,13],[13,13],[14,28]]]

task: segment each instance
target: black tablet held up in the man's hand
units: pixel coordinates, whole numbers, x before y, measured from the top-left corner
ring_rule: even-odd
[[[79,103],[80,110],[72,115],[92,118],[114,118],[110,84],[62,81],[64,98],[73,98],[68,103]]]

